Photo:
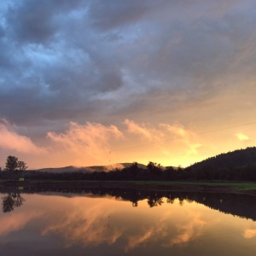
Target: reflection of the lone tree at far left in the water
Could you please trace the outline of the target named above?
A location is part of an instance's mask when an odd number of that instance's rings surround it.
[[[20,207],[23,205],[25,199],[20,195],[20,193],[9,193],[2,197],[2,209],[3,212],[12,212],[15,207]]]

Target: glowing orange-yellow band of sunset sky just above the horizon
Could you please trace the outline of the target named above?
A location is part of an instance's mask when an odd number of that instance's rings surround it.
[[[44,147],[39,147],[29,137],[21,136],[14,130],[12,125],[0,125],[0,149],[15,150],[26,158],[32,153],[33,157],[26,160],[31,169],[45,165],[60,167],[118,164],[113,166],[114,169],[122,167],[119,163],[133,161],[144,165],[153,161],[162,166],[189,166],[209,156],[224,153],[230,149],[227,145],[232,145],[233,149],[241,148],[241,145],[253,146],[253,139],[249,139],[252,137],[250,133],[246,135],[236,132],[237,140],[234,141],[234,135],[230,131],[223,131],[223,135],[218,135],[218,141],[223,143],[225,137],[225,141],[230,139],[230,142],[218,147],[212,135],[201,137],[195,128],[185,127],[177,122],[144,124],[125,119],[123,125],[119,126],[70,122],[66,131],[49,131]],[[219,152],[219,148],[223,148],[222,152]]]

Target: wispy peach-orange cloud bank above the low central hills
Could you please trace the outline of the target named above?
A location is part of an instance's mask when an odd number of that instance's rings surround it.
[[[162,154],[172,154],[172,148],[165,143],[174,141],[176,147],[182,145],[185,155],[197,154],[196,148],[201,146],[200,143],[195,143],[195,134],[182,125],[161,124],[155,127],[151,124],[137,124],[130,119],[125,119],[124,124],[125,127],[117,127],[89,122],[79,125],[71,122],[65,132],[48,132],[47,137],[50,141],[47,157],[52,158],[50,161],[55,159],[55,162],[62,159],[62,165],[68,165],[69,160],[73,165],[90,166],[93,163],[102,165],[106,160],[112,160],[122,151],[122,145],[125,143],[130,143],[133,159],[137,157],[137,147],[142,144],[153,144]],[[148,158],[146,163],[150,160]],[[119,159],[114,158],[114,161],[118,162]]]

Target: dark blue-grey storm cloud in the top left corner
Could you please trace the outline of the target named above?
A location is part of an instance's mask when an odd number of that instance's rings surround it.
[[[80,2],[72,1],[71,4],[66,0],[16,1],[9,5],[6,19],[20,42],[45,44],[49,43],[58,30],[58,15],[67,15]]]

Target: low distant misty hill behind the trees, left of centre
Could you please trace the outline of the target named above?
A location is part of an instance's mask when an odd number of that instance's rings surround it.
[[[86,167],[77,167],[77,166],[65,166],[59,168],[42,168],[35,170],[37,172],[51,172],[51,173],[61,173],[61,172],[109,172],[116,170],[116,168],[122,170],[126,167],[131,166],[131,163],[119,163],[109,166],[86,166]],[[138,164],[139,168],[147,168],[143,164]]]

